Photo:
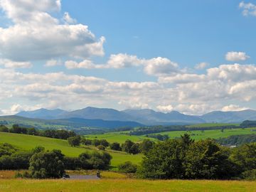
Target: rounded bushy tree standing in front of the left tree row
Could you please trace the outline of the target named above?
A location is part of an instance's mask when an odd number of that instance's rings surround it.
[[[32,178],[61,178],[65,174],[64,155],[60,150],[41,151],[29,161]]]

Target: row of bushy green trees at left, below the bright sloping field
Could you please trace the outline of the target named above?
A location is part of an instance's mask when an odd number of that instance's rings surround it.
[[[20,151],[11,144],[0,144],[0,169],[28,169],[25,177],[60,178],[69,169],[108,169],[112,156],[107,152],[82,153],[68,157],[58,149],[46,151],[37,146],[31,151]]]

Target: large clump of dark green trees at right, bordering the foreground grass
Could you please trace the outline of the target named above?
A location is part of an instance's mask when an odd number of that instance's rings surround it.
[[[256,179],[256,143],[235,149],[213,139],[195,142],[188,134],[154,144],[137,175],[157,179]]]

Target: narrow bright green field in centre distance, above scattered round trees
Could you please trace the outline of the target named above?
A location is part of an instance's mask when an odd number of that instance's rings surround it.
[[[153,141],[157,141],[153,138],[148,138],[145,136],[136,136],[136,135],[129,135],[129,134],[122,134],[123,132],[114,132],[114,133],[105,133],[105,134],[91,134],[85,135],[87,139],[106,139],[107,142],[119,142],[124,143],[127,139],[131,140],[132,142],[142,142],[144,139],[151,139]]]

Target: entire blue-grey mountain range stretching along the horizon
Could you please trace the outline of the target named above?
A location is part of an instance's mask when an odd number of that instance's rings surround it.
[[[154,110],[119,111],[107,108],[86,107],[71,112],[59,109],[39,109],[18,112],[16,115],[36,119],[97,119],[104,121],[137,122],[145,125],[198,124],[206,122],[238,123],[245,120],[256,120],[255,110],[242,110],[238,112],[214,111],[203,115],[188,115],[177,111],[163,113]]]

